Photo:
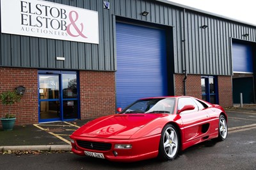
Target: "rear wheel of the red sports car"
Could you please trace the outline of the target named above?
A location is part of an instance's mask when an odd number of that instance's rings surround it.
[[[218,137],[216,138],[216,141],[225,141],[227,139],[228,135],[228,124],[225,116],[222,114],[219,118],[219,127],[218,127]]]

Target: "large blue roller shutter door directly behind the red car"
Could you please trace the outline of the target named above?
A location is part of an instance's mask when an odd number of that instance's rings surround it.
[[[116,106],[167,95],[165,31],[116,22]]]

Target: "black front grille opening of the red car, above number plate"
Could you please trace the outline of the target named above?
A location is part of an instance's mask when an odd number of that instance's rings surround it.
[[[91,141],[77,141],[77,145],[81,148],[98,151],[108,151],[111,149],[111,143],[97,143]]]

